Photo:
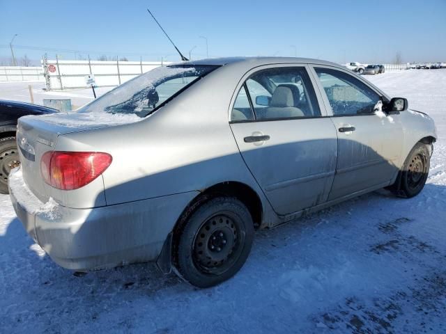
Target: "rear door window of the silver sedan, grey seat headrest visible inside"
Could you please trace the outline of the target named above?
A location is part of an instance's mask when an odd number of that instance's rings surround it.
[[[316,94],[304,67],[261,70],[249,77],[244,86],[256,120],[321,116]]]

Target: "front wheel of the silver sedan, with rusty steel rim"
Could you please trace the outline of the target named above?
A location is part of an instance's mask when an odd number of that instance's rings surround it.
[[[426,145],[417,143],[404,161],[403,170],[397,181],[388,189],[397,196],[412,198],[417,196],[426,184],[431,157]]]

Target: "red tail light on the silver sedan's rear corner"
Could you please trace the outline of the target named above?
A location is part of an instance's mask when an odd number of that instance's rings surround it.
[[[40,159],[40,173],[50,186],[79,189],[104,173],[112,156],[102,152],[46,152]]]

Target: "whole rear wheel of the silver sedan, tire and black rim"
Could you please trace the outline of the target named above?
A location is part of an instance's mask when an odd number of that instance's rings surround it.
[[[176,271],[196,287],[213,287],[243,267],[253,239],[252,217],[240,200],[208,200],[185,220],[174,239]]]

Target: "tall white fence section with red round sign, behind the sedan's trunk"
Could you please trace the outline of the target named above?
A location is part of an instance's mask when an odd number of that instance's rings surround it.
[[[164,63],[167,65],[168,63]],[[59,61],[43,62],[47,76],[47,89],[85,88],[85,77],[95,76],[98,87],[123,84],[139,74],[163,65],[157,61]],[[48,85],[49,84],[49,85]]]

